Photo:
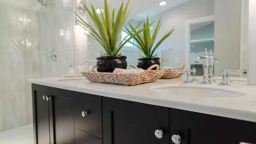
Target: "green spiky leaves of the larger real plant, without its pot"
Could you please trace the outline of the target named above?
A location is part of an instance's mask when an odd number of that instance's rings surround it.
[[[90,33],[90,34],[85,34],[85,35],[87,35],[88,37],[90,37],[90,38],[94,39],[95,41],[99,42],[103,46],[104,50],[106,51],[105,54],[102,54],[103,56],[121,55],[121,53],[119,53],[119,51],[122,49],[122,47],[127,42],[129,42],[130,39],[134,38],[136,35],[141,33],[146,28],[149,28],[149,26],[152,24],[152,23],[148,24],[147,27],[145,27],[145,28],[143,28],[139,31],[136,31],[133,34],[131,34],[132,31],[133,31],[132,30],[131,33],[130,33],[130,37],[129,38],[125,37],[123,39],[123,41],[118,44],[120,34],[122,32],[122,29],[123,29],[123,25],[124,25],[129,13],[130,13],[130,10],[131,10],[130,9],[127,12],[129,2],[126,4],[124,9],[123,9],[123,3],[120,6],[120,9],[117,13],[116,20],[114,20],[115,19],[114,18],[115,17],[115,15],[114,15],[115,9],[113,10],[112,15],[110,15],[109,6],[108,6],[108,3],[107,3],[106,0],[105,0],[105,17],[104,17],[104,15],[103,15],[100,7],[99,7],[101,19],[100,19],[98,13],[96,12],[96,10],[94,9],[92,4],[91,4],[91,6],[92,6],[92,12],[91,12],[88,9],[88,7],[83,3],[84,6],[85,6],[85,9],[87,10],[90,17],[92,18],[95,26],[97,27],[98,32],[96,30],[94,30],[82,18],[80,18],[79,15],[77,15],[77,13],[76,13],[78,19],[77,18],[75,18],[75,19],[78,21],[78,24],[81,27],[83,27],[85,30],[89,31],[89,33]],[[136,28],[138,28],[138,26]]]

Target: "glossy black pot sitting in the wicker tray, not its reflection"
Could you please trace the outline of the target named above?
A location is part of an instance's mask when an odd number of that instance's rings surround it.
[[[126,56],[108,56],[108,57],[97,57],[96,66],[98,72],[113,73],[115,68],[126,69],[127,62]]]

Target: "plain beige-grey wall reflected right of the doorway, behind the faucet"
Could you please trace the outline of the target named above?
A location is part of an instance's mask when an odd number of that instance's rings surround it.
[[[239,69],[241,0],[215,0],[215,76],[222,69]],[[238,75],[233,75],[238,76]]]

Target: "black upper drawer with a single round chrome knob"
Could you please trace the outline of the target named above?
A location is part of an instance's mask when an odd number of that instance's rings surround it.
[[[100,96],[74,92],[74,116],[75,127],[102,139]]]

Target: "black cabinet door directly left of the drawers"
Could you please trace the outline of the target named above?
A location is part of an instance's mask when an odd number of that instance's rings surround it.
[[[49,87],[51,143],[74,143],[73,92]]]

